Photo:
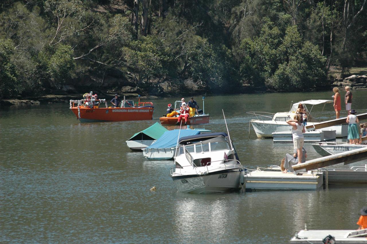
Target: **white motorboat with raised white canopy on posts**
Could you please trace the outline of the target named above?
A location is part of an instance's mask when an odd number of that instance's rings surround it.
[[[311,111],[314,105],[332,103],[333,100],[307,100],[294,103],[289,112],[279,113],[267,113],[267,112],[247,112],[254,114],[257,119],[251,120],[252,127],[254,127],[255,133],[258,138],[273,137],[273,132],[290,131],[292,127],[286,123],[287,120],[294,119],[295,112],[298,108],[298,104],[302,103],[307,112],[307,125],[318,124],[321,121],[313,118]],[[308,111],[306,104],[312,105],[310,111]],[[264,118],[264,119],[263,119]],[[337,137],[345,137],[348,135],[348,125],[335,125],[331,127],[323,128],[322,130],[335,130]]]

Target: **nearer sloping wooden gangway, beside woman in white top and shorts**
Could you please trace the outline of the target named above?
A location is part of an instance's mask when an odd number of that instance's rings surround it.
[[[346,165],[364,159],[367,159],[367,148],[360,148],[330,156],[320,157],[318,159],[308,160],[305,163],[293,165],[292,168],[294,169],[294,174],[297,174],[299,172],[315,170],[317,168],[323,168],[334,164],[344,163],[344,165]]]

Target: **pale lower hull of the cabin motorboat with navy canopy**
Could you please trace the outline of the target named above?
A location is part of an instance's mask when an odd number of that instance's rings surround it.
[[[183,193],[220,193],[239,190],[241,172],[239,169],[222,170],[207,175],[172,175],[177,190]]]

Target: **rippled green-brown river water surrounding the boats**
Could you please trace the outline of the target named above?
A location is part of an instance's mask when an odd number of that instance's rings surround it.
[[[257,139],[249,128],[254,117],[246,112],[283,112],[291,101],[331,95],[208,96],[204,109],[211,121],[195,127],[226,131],[224,109],[241,163],[252,169],[279,165],[292,144]],[[202,108],[201,97],[196,101]],[[305,224],[357,228],[367,185],[178,193],[169,175],[173,161],[146,160],[125,143],[158,121],[174,99],[153,103],[153,121],[105,123],[79,123],[67,103],[0,108],[0,243],[288,243]],[[367,112],[366,105],[366,91],[353,91],[352,109]],[[335,117],[332,104],[312,113]],[[309,159],[320,157],[310,144],[305,148]]]

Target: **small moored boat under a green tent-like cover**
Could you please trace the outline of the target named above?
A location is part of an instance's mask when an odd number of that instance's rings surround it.
[[[156,122],[145,130],[135,133],[126,141],[126,144],[131,150],[141,151],[156,142],[166,131],[168,130]]]

